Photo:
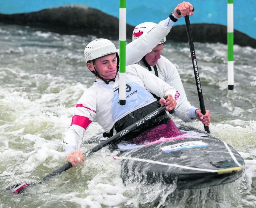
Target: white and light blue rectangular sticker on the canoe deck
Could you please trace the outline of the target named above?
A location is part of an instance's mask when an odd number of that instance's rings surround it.
[[[187,141],[182,143],[177,143],[174,145],[168,145],[165,147],[161,147],[162,150],[164,150],[166,153],[172,152],[172,151],[178,151],[181,149],[189,149],[189,148],[196,148],[196,147],[208,147],[209,145],[204,143],[203,141]]]

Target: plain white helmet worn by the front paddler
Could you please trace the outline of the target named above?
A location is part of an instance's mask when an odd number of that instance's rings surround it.
[[[91,41],[84,49],[86,63],[113,53],[117,53],[116,46],[110,40],[104,38]]]

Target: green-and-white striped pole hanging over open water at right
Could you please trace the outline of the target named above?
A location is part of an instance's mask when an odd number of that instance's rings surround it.
[[[234,9],[228,0],[228,89],[234,89]]]

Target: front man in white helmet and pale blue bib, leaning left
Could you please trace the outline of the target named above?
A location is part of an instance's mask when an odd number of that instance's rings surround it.
[[[85,47],[84,57],[88,69],[95,74],[96,80],[78,100],[71,125],[63,132],[62,143],[65,151],[68,152],[67,159],[72,165],[84,161],[84,156],[78,148],[92,122],[97,122],[107,132],[113,127],[119,132],[161,105],[165,105],[168,111],[174,109],[180,97],[180,93],[174,87],[140,65],[134,64],[126,67],[126,104],[121,106],[119,58],[114,43],[107,39],[96,39]],[[151,93],[161,97],[160,101],[158,102]],[[168,96],[166,100],[164,96]],[[140,125],[132,131],[132,135],[128,133],[126,138],[134,138],[141,132],[160,124],[170,126],[172,123],[166,112],[163,112]]]

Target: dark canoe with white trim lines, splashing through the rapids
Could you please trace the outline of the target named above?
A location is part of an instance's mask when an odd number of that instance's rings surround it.
[[[194,189],[233,182],[244,172],[244,159],[230,145],[192,127],[179,125],[184,135],[158,138],[146,144],[121,142],[124,182],[174,183]]]

